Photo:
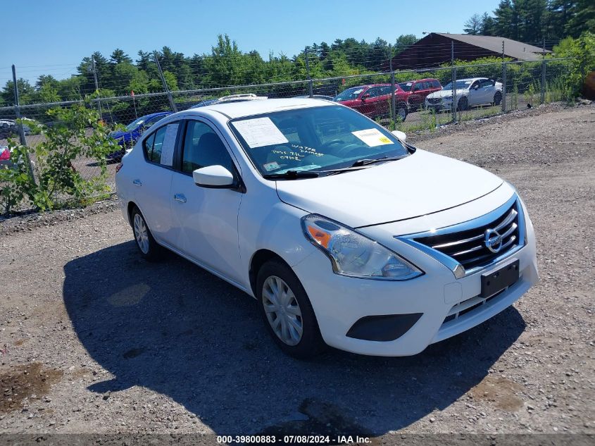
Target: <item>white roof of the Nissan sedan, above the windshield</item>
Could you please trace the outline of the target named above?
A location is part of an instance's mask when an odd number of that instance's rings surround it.
[[[228,102],[227,104],[206,105],[199,109],[188,109],[185,113],[199,114],[205,111],[216,111],[227,116],[227,118],[234,119],[282,110],[308,109],[310,107],[333,105],[336,106],[337,104],[325,99],[261,99],[260,101]]]

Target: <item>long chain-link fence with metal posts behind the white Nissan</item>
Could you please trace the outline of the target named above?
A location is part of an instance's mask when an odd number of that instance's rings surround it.
[[[149,125],[165,113],[209,104],[234,94],[255,94],[268,98],[326,97],[343,103],[372,118],[389,130],[412,132],[434,130],[439,125],[494,116],[527,107],[565,99],[563,80],[568,60],[544,58],[542,61],[441,66],[423,70],[393,70],[372,74],[350,74],[333,78],[269,82],[205,89],[169,91],[120,97],[100,97],[98,89],[89,102],[106,125],[123,125],[113,133],[114,154],[108,156],[108,187],[115,192],[115,166],[123,149],[132,146]],[[309,77],[308,75],[306,77]],[[163,73],[162,73],[163,78]],[[477,79],[482,78],[482,79]],[[368,86],[373,86],[368,87]],[[370,92],[366,97],[361,91]],[[353,94],[348,94],[353,92]],[[351,98],[353,97],[353,98]],[[345,99],[345,98],[343,98]],[[49,110],[68,107],[81,101],[0,107],[0,147],[8,138],[35,149],[44,137],[36,124],[55,125]],[[160,114],[161,113],[161,114]],[[89,128],[89,132],[91,129]],[[1,149],[0,149],[1,151]],[[119,156],[118,156],[118,152]],[[32,150],[35,153],[35,150]],[[35,156],[32,156],[35,171]],[[7,163],[0,168],[10,168]],[[99,175],[92,159],[76,159],[73,169],[85,179]],[[5,186],[5,185],[4,185]],[[3,187],[3,185],[0,185]],[[0,212],[2,209],[0,209]]]

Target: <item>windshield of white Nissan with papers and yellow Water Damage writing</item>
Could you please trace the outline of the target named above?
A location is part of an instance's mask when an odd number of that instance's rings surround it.
[[[277,111],[231,121],[254,166],[263,175],[324,171],[360,159],[406,156],[391,132],[342,106]]]

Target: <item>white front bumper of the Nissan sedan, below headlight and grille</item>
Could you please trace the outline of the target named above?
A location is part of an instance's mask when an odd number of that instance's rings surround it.
[[[498,314],[537,283],[535,238],[528,216],[526,222],[524,247],[497,264],[460,279],[454,278],[443,264],[406,244],[399,247],[399,254],[425,271],[413,280],[366,280],[337,275],[332,273],[327,257],[318,250],[294,266],[294,271],[310,297],[320,333],[328,345],[375,356],[417,354],[434,342],[469,330]],[[519,280],[487,301],[480,299],[481,275],[516,259],[520,262]],[[362,340],[347,335],[366,316],[403,314],[421,316],[394,340]]]

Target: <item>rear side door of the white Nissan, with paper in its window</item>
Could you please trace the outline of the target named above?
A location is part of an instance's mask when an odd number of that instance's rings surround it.
[[[170,211],[173,153],[180,122],[162,125],[143,142],[144,163],[132,176],[134,202],[158,242],[171,244],[174,228]]]

